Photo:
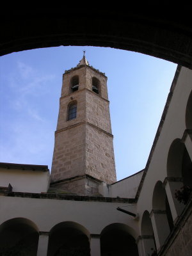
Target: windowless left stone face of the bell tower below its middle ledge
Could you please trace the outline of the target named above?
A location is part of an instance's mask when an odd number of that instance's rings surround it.
[[[51,180],[83,175],[85,172],[85,124],[55,134]]]

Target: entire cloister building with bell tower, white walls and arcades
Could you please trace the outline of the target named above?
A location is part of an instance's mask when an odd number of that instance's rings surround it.
[[[46,166],[0,164],[0,255],[191,255],[191,81],[178,66],[145,169],[116,181],[106,76],[85,57],[65,72],[51,185]]]

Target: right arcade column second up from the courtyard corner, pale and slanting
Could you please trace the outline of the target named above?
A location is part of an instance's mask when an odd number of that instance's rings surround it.
[[[156,240],[157,252],[164,244],[166,237],[170,234],[170,228],[166,217],[166,211],[152,210],[150,212],[152,227],[154,230],[154,237]]]

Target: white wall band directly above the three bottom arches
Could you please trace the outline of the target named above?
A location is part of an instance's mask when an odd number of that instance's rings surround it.
[[[12,218],[26,218],[33,221],[38,230],[49,232],[62,221],[74,221],[82,225],[90,234],[100,234],[112,223],[123,223],[129,234],[138,237],[138,221],[116,208],[127,203],[90,202],[76,200],[56,200],[0,196],[0,225]],[[136,206],[130,205],[135,212]]]

